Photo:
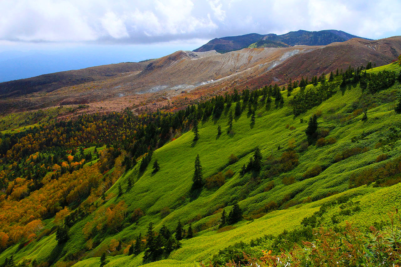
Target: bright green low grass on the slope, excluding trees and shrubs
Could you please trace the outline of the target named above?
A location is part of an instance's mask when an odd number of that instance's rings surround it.
[[[378,69],[395,69],[394,64]],[[308,85],[307,88],[313,88]],[[349,216],[342,216],[340,225],[345,220],[350,220],[361,227],[368,227],[375,221],[380,221],[393,207],[401,204],[400,185],[396,184],[386,188],[374,188],[372,186],[361,186],[349,189],[348,179],[354,172],[360,172],[366,168],[383,166],[389,160],[401,154],[401,142],[395,142],[392,149],[375,148],[379,138],[387,135],[391,126],[401,126],[401,115],[395,113],[395,95],[401,93],[401,85],[396,82],[393,87],[380,91],[374,95],[375,107],[367,112],[368,120],[361,120],[363,113],[354,113],[356,104],[360,101],[362,91],[358,85],[347,86],[344,90],[338,90],[328,100],[317,107],[308,110],[298,117],[291,113],[288,101],[296,95],[300,89],[294,90],[290,97],[284,91],[284,107],[275,108],[274,102],[267,109],[265,105],[258,105],[256,110],[256,121],[251,123],[247,109],[241,116],[235,117],[233,121],[234,134],[227,134],[227,121],[229,109],[225,109],[220,119],[212,117],[207,121],[199,123],[200,138],[193,142],[193,132],[189,131],[176,140],[169,142],[162,148],[156,150],[152,156],[148,168],[139,172],[139,164],[128,170],[107,191],[107,194],[117,195],[118,186],[124,191],[122,196],[116,196],[104,205],[118,203],[124,200],[128,205],[128,214],[136,208],[141,208],[145,216],[140,218],[137,224],[127,224],[127,227],[115,235],[109,235],[101,243],[85,254],[74,266],[98,266],[99,257],[110,244],[111,239],[123,240],[128,243],[134,240],[139,233],[146,234],[148,224],[154,223],[156,231],[165,224],[171,231],[175,230],[178,220],[187,224],[192,220],[192,227],[199,229],[195,237],[182,241],[182,247],[173,251],[169,258],[163,261],[150,263],[146,266],[194,266],[194,261],[208,260],[220,249],[239,241],[250,241],[266,234],[277,235],[284,230],[290,230],[300,225],[302,219],[310,216],[319,207],[330,199],[338,196],[348,195],[360,201],[361,210]],[[231,106],[234,113],[235,103]],[[309,146],[301,151],[301,146],[306,142],[305,129],[310,116],[321,113],[318,118],[319,127],[330,131],[328,137],[336,138],[334,144],[318,147]],[[354,114],[354,115],[353,115]],[[301,123],[300,119],[303,119]],[[217,126],[221,125],[223,134],[217,136]],[[290,129],[293,126],[295,127]],[[354,140],[352,140],[354,138]],[[355,138],[358,140],[355,141]],[[265,188],[270,182],[264,178],[263,172],[259,174],[260,179],[251,178],[251,174],[244,176],[240,174],[243,164],[247,164],[253,156],[253,150],[259,147],[263,160],[272,155],[279,158],[288,149],[288,141],[295,140],[295,150],[299,156],[299,164],[293,170],[273,177],[275,187],[267,192]],[[280,150],[278,150],[280,146]],[[367,152],[351,156],[350,158],[334,162],[334,156],[348,148],[368,148]],[[377,156],[388,154],[388,159],[376,163]],[[226,182],[220,188],[204,188],[198,196],[190,193],[192,176],[194,171],[194,160],[199,154],[203,167],[203,177],[209,177],[223,173],[229,169],[233,170],[234,176],[226,178]],[[229,164],[229,155],[234,154],[239,160]],[[152,173],[154,160],[158,160],[160,170]],[[302,175],[310,168],[319,165],[322,172],[313,178],[303,180]],[[284,185],[282,178],[294,176],[296,182]],[[134,186],[126,192],[128,178],[132,178]],[[338,193],[329,196],[333,193]],[[206,228],[205,225],[216,221],[221,216],[220,208],[225,207],[226,212],[231,210],[231,205],[239,201],[239,206],[244,214],[262,208],[265,204],[284,199],[290,196],[293,204],[287,209],[276,210],[252,222],[242,220],[234,225],[234,229],[217,233],[216,227]],[[326,197],[329,196],[329,197]],[[310,197],[314,202],[304,203]],[[99,202],[100,204],[101,202]],[[166,217],[160,216],[162,208],[169,207],[171,212]],[[338,214],[338,206],[333,207],[324,215],[325,224],[333,226],[330,219]],[[36,259],[36,262],[47,261],[49,251],[60,249],[64,261],[69,261],[68,255],[78,253],[85,247],[87,242],[82,234],[82,228],[93,216],[76,223],[69,231],[70,239],[64,247],[57,247],[55,235],[45,237],[38,242],[32,242],[23,249],[18,250],[18,245],[11,247],[0,255],[0,263],[5,257],[14,254],[14,259]],[[209,224],[210,225],[210,224]],[[185,226],[187,228],[188,225]],[[206,228],[206,229],[205,229]],[[107,257],[106,266],[138,266],[142,264],[143,253],[134,256],[126,254]]]

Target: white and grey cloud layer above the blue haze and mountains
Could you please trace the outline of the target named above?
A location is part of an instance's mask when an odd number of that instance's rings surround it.
[[[401,34],[399,0],[2,0],[0,42],[153,43],[257,32]]]

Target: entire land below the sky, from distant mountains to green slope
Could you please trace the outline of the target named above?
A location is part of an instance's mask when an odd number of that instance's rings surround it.
[[[253,33],[0,83],[0,267],[401,266],[400,54]]]

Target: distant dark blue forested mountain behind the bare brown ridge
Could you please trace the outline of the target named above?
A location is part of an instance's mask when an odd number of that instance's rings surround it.
[[[273,33],[264,35],[252,33],[240,36],[215,38],[198,49],[195,49],[194,52],[216,50],[219,53],[227,53],[245,47],[262,48],[290,47],[294,45],[327,45],[332,42],[344,42],[352,38],[362,37],[343,32],[342,30],[320,30],[313,32],[298,30],[296,32],[288,32],[281,35]],[[252,40],[256,41],[252,42]]]

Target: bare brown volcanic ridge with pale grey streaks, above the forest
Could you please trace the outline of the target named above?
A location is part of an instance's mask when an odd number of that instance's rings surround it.
[[[126,107],[138,113],[157,108],[173,110],[234,88],[282,85],[290,78],[328,74],[337,68],[345,70],[349,65],[365,66],[368,62],[385,65],[399,54],[401,36],[380,40],[353,38],[326,46],[247,48],[225,54],[177,51],[146,63],[115,64],[109,73],[107,67],[95,73],[96,67],[92,72],[87,69],[64,72],[57,83],[39,89],[38,84],[43,83],[40,77],[49,81],[52,75],[29,78],[30,83],[24,81],[27,79],[18,80],[21,87],[25,86],[18,92],[7,89],[11,82],[0,83],[0,112],[77,104],[87,104],[80,113],[107,113]],[[18,81],[13,81],[14,85]]]

